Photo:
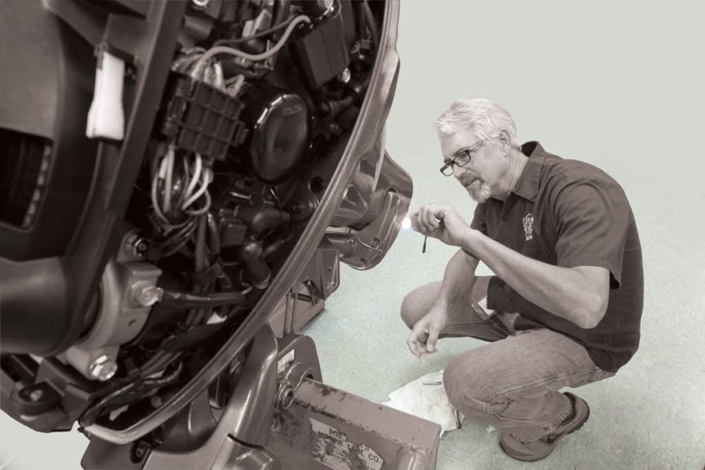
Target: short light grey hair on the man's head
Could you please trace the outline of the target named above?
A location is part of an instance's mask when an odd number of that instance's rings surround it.
[[[474,128],[479,140],[487,140],[504,130],[511,147],[519,148],[517,125],[507,110],[484,98],[458,99],[436,120],[439,135],[453,135]]]

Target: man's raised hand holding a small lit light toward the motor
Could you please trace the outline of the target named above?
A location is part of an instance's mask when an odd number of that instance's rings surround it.
[[[434,237],[446,245],[460,247],[470,227],[453,206],[422,206],[410,214],[411,228],[427,237]]]

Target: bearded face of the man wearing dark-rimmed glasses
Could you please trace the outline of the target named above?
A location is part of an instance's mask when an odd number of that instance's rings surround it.
[[[472,199],[485,202],[495,194],[507,162],[492,140],[478,145],[480,141],[471,128],[453,135],[441,135],[440,141],[443,163],[448,163],[462,151],[471,149],[471,159],[467,164],[453,165],[453,177],[465,187]]]

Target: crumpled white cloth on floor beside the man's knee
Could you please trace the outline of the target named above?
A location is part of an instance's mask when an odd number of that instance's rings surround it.
[[[441,426],[441,435],[458,429],[465,419],[448,402],[443,388],[443,371],[427,373],[389,394],[389,401],[382,403],[400,412],[412,414]]]

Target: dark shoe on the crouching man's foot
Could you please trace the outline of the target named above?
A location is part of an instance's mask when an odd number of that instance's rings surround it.
[[[582,428],[582,425],[590,417],[590,407],[587,406],[585,400],[570,392],[564,392],[563,395],[570,398],[572,410],[570,415],[558,425],[556,431],[530,443],[524,443],[510,433],[501,433],[499,446],[504,453],[523,462],[536,462],[548,457],[548,454],[551,454],[556,447],[558,440],[564,435]]]

